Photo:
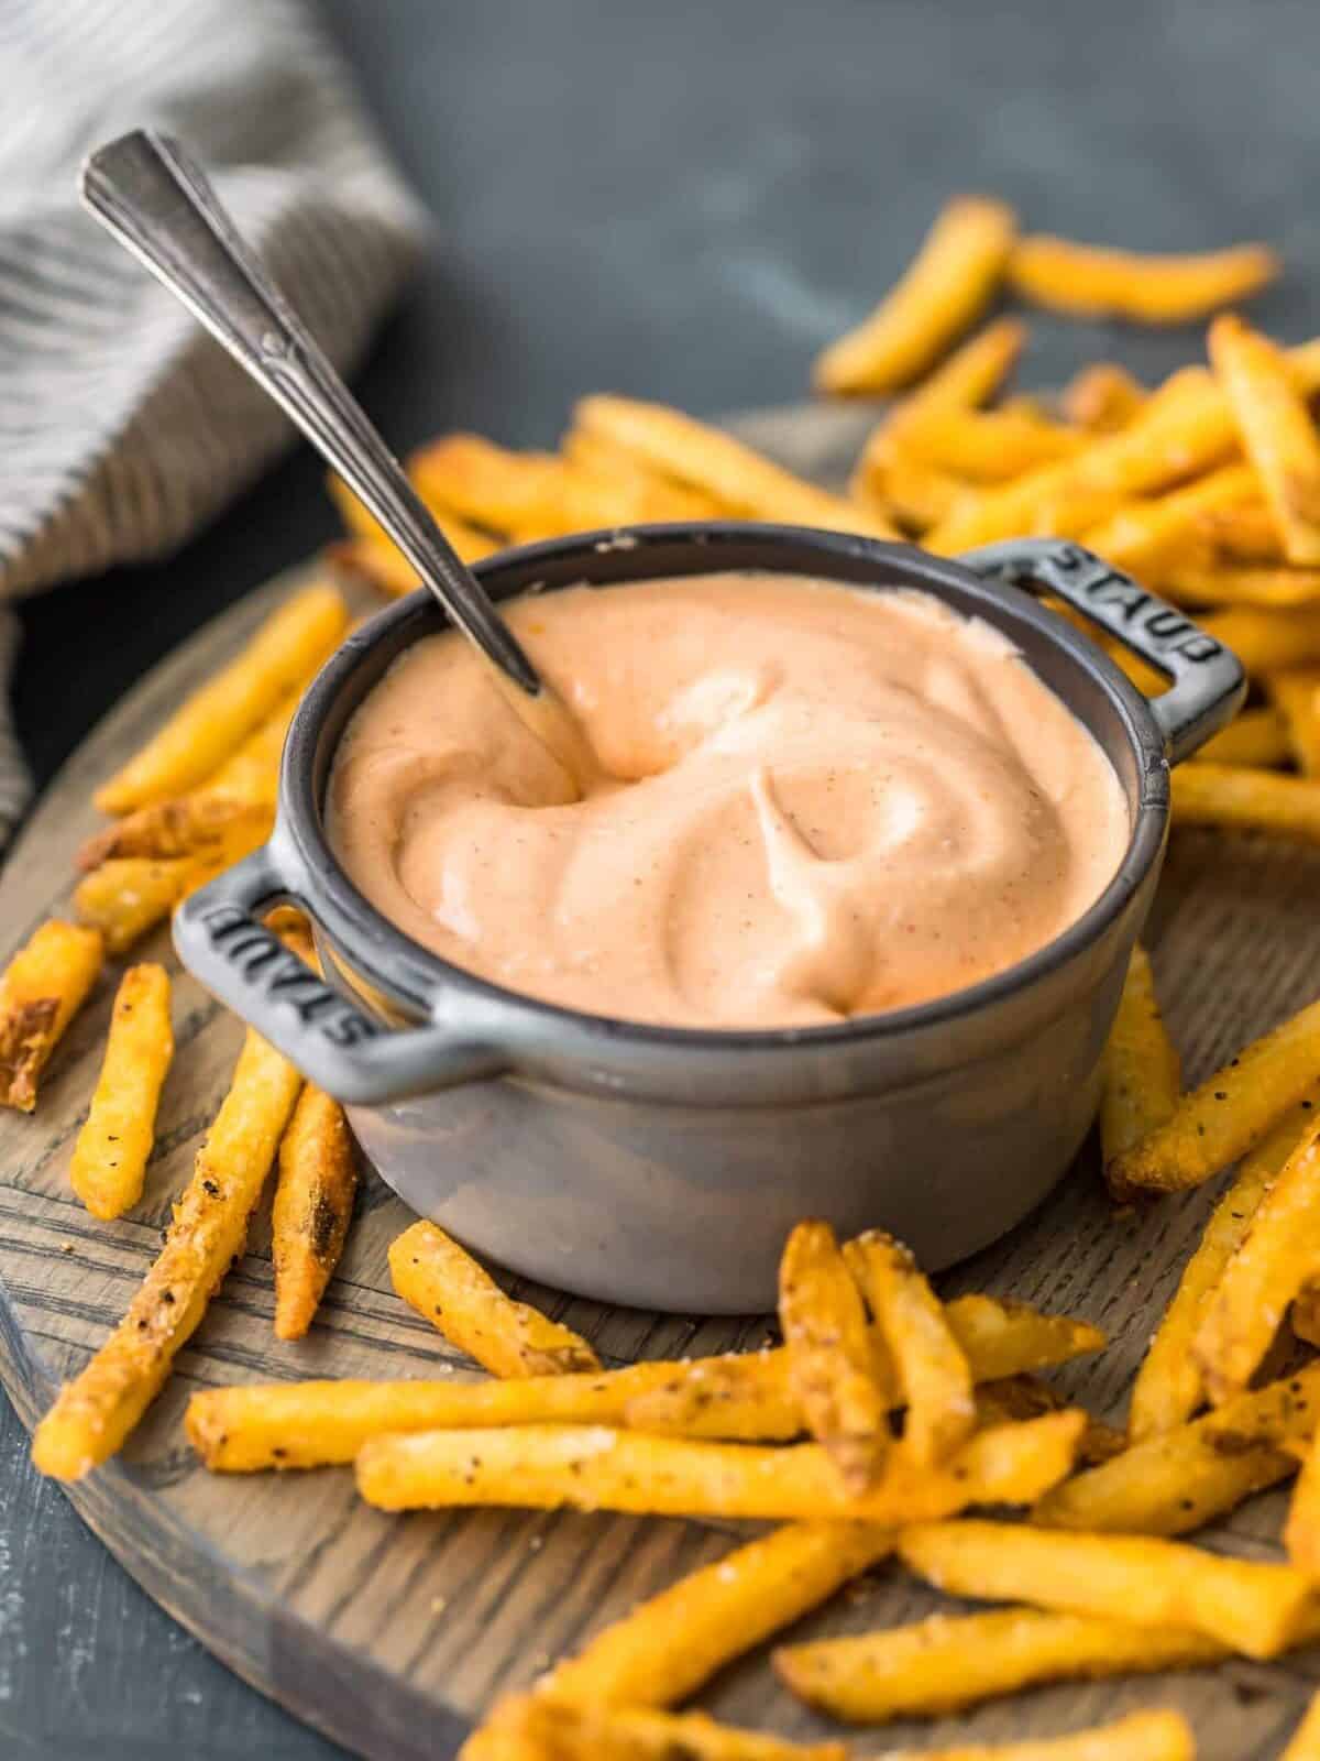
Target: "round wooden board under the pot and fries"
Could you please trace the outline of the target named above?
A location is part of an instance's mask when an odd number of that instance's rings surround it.
[[[743,424],[799,470],[829,479],[852,456],[866,416],[778,412]],[[248,637],[299,576],[273,581],[160,666],[92,734],[35,814],[0,880],[0,956],[48,914],[67,912],[72,856],[97,824],[92,789],[160,718]],[[1308,1002],[1320,963],[1320,852],[1179,836],[1149,932],[1186,1072],[1202,1076],[1250,1035]],[[32,1118],[0,1115],[0,1377],[32,1426],[62,1377],[77,1370],[128,1303],[150,1264],[171,1197],[225,1090],[236,1020],[178,974],[165,933],[143,953],[176,972],[178,1057],[143,1203],[99,1224],[67,1185],[70,1136],[95,1079],[113,974],[74,1023]],[[975,1175],[970,1173],[970,1178]],[[1089,1159],[1023,1227],[943,1280],[947,1294],[987,1289],[1081,1314],[1111,1333],[1109,1351],[1060,1375],[1096,1414],[1121,1412],[1151,1328],[1195,1242],[1211,1192],[1114,1217]],[[882,1219],[876,1219],[882,1220]],[[736,1525],[517,1511],[387,1518],[361,1506],[347,1470],[220,1479],[183,1440],[195,1388],[308,1375],[465,1375],[389,1287],[385,1249],[408,1213],[364,1180],[348,1249],[308,1340],[271,1333],[269,1227],[227,1277],[204,1326],[123,1456],[70,1488],[74,1506],[127,1569],[239,1675],[373,1761],[438,1761],[500,1689],[532,1680],[639,1597],[716,1558]],[[702,1321],[605,1310],[526,1282],[510,1287],[565,1315],[602,1359],[723,1351],[755,1342],[762,1321]],[[1206,1539],[1276,1557],[1281,1495],[1237,1511]],[[861,1631],[950,1604],[882,1569],[804,1624]],[[1121,1710],[1179,1705],[1204,1761],[1278,1752],[1320,1676],[1320,1657],[1118,1684],[1052,1687],[884,1738],[854,1752],[1045,1735]],[[753,1655],[702,1703],[722,1717],[820,1738]],[[838,1735],[838,1733],[832,1733]]]

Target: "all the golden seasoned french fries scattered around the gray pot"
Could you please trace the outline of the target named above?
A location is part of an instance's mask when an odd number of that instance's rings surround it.
[[[1077,537],[1179,604],[1209,608],[1204,622],[1251,674],[1253,701],[1177,773],[1176,821],[1316,842],[1320,342],[1280,350],[1221,310],[1276,271],[1262,247],[1153,259],[1023,238],[1003,203],[964,197],[817,363],[822,391],[901,393],[847,493],[678,410],[616,396],[584,398],[558,453],[449,435],[410,472],[470,560],[713,516],[910,537],[947,555],[1021,534]],[[1133,322],[1220,315],[1207,365],[1163,386],[1102,361],[1056,398],[1005,396],[1024,322],[993,317],[964,340],[1001,291]],[[400,553],[340,484],[331,491],[347,525],[331,569],[408,592]],[[347,627],[331,581],[301,590],[99,791],[111,822],[79,856],[77,921],[42,925],[0,979],[0,1104],[37,1106],[106,960],[268,835],[289,720]],[[1140,689],[1163,689],[1114,659]],[[280,930],[315,960],[296,914]],[[141,1199],[171,1060],[169,974],[132,965],[69,1168],[95,1217]],[[783,1252],[781,1345],[609,1370],[586,1338],[510,1300],[417,1222],[391,1249],[394,1289],[488,1379],[218,1388],[192,1398],[187,1433],[216,1474],[354,1465],[363,1499],[389,1511],[498,1504],[778,1525],[505,1698],[466,1761],[832,1761],[838,1743],[803,1747],[681,1708],[730,1659],[882,1566],[1001,1606],[773,1652],[790,1692],[848,1724],[1318,1643],[1320,1358],[1308,1354],[1320,1345],[1320,1002],[1184,1094],[1139,949],[1105,1055],[1100,1136],[1123,1205],[1236,1168],[1123,1432],[1049,1382],[1104,1347],[1096,1328],[991,1296],[945,1303],[901,1243],[880,1231],[838,1243],[806,1220]],[[155,1264],[37,1428],[42,1472],[76,1479],[123,1446],[241,1250],[271,1169],[275,1331],[297,1338],[343,1249],[357,1168],[336,1102],[248,1032]],[[1294,1476],[1287,1560],[1183,1539]],[[968,1514],[979,1509],[998,1514]],[[1045,1742],[922,1752],[1184,1761],[1193,1740],[1176,1712],[1155,1710]],[[1320,1705],[1287,1754],[1320,1756]]]

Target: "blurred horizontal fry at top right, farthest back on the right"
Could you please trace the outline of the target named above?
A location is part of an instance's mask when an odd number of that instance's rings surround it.
[[[1265,245],[1162,257],[1038,234],[1021,238],[1008,259],[1008,282],[1023,298],[1052,312],[1137,324],[1186,324],[1248,299],[1278,273],[1280,259]]]

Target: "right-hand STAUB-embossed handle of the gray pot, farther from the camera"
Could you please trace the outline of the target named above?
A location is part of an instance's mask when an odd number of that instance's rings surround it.
[[[1172,678],[1170,689],[1149,701],[1170,764],[1181,764],[1241,708],[1246,673],[1237,655],[1095,551],[1065,539],[1008,539],[966,551],[957,560],[1010,586],[1058,593],[1074,611]]]

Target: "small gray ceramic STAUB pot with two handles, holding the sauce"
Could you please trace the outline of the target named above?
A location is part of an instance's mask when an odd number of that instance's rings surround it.
[[[380,917],[322,831],[345,722],[440,627],[419,592],[322,669],[289,734],[271,842],[195,893],[174,939],[202,983],[348,1104],[366,1155],[421,1215],[567,1291],[746,1314],[773,1305],[785,1233],[804,1215],[843,1233],[880,1224],[935,1270],[1003,1234],[1063,1175],[1095,1115],[1100,1050],[1160,873],[1169,764],[1228,720],[1244,680],[1179,611],[1054,541],[945,562],[787,527],[644,527],[507,551],[479,572],[503,599],[716,569],[919,586],[1007,632],[1128,796],[1128,852],[1086,916],[998,977],[838,1027],[641,1027],[473,977]],[[1148,703],[1035,602],[1045,590],[1170,690]],[[331,984],[260,926],[282,900],[315,921]]]

